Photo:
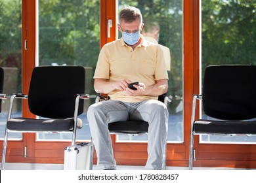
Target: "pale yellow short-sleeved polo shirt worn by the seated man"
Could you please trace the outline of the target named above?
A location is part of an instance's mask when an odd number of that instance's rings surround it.
[[[141,35],[140,45],[133,50],[123,38],[109,42],[102,47],[98,56],[94,78],[118,81],[128,78],[132,82],[142,82],[152,86],[156,80],[168,79],[163,51],[158,44],[146,41]],[[141,95],[130,96],[125,91],[114,90],[108,93],[110,99],[135,103],[158,97]]]

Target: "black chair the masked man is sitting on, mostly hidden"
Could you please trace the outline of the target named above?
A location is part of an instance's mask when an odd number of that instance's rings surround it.
[[[158,100],[163,102],[166,106],[167,103],[171,102],[173,97],[171,95],[160,95]],[[106,101],[108,100],[107,95],[100,95],[96,98],[96,102],[98,101]],[[108,130],[110,134],[114,135],[148,135],[148,122],[145,121],[121,121],[121,122],[113,122],[108,124]],[[166,157],[166,155],[165,155]]]

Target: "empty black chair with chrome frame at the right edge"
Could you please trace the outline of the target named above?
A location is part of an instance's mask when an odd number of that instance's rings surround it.
[[[195,120],[196,101],[206,116]],[[211,65],[205,69],[202,95],[192,105],[189,169],[193,167],[194,135],[256,135],[256,65]]]

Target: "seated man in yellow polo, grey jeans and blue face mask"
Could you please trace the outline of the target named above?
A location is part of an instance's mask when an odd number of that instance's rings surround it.
[[[95,69],[95,91],[110,100],[91,105],[87,118],[98,157],[98,169],[116,169],[108,124],[124,120],[148,122],[148,161],[145,169],[163,169],[168,110],[158,101],[167,92],[167,71],[158,44],[144,40],[140,10],[125,7],[119,13],[121,39],[105,44]],[[137,90],[128,88],[131,82]]]

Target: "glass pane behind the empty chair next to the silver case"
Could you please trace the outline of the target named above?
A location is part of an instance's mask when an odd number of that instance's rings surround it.
[[[100,0],[38,0],[38,65],[85,67],[85,93],[96,95],[93,74],[100,52]],[[77,141],[91,139],[87,108],[95,98],[85,100],[82,129]],[[39,134],[38,141],[70,141],[72,134]]]

